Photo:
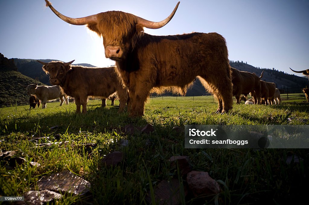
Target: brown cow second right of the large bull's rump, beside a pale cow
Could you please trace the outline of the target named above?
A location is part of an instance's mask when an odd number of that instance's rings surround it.
[[[261,84],[261,99],[265,100],[265,105],[273,104],[275,98],[276,85],[273,82],[260,81]],[[256,93],[252,92],[250,94],[252,97],[256,97]],[[263,103],[264,104],[264,103]]]

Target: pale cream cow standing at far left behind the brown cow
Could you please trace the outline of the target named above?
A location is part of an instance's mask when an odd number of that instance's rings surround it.
[[[21,85],[21,84],[20,84]],[[27,89],[27,94],[36,95],[36,97],[42,101],[43,106],[42,109],[46,108],[46,103],[48,100],[60,99],[60,106],[62,106],[63,102],[66,101],[66,104],[69,104],[69,96],[67,96],[60,86],[39,86],[36,84],[30,84],[28,86],[24,86]]]

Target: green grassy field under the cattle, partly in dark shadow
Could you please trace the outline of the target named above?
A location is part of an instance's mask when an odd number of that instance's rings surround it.
[[[90,192],[83,196],[62,193],[57,204],[148,204],[147,192],[154,193],[164,179],[176,178],[185,186],[186,179],[168,162],[177,155],[189,156],[192,169],[208,172],[222,190],[198,198],[181,195],[182,204],[301,204],[307,195],[307,149],[185,149],[184,132],[173,129],[188,124],[309,124],[305,100],[277,106],[234,104],[229,114],[218,115],[212,96],[158,97],[150,98],[145,116],[136,119],[126,112],[118,114],[110,101],[107,104],[102,108],[101,101],[89,101],[86,115],[76,115],[72,103],[59,107],[59,102],[51,102],[46,109],[30,111],[29,106],[1,108],[1,151],[16,151],[16,156],[40,166],[26,163],[6,170],[5,161],[0,161],[0,195],[22,196],[37,190],[42,176],[70,170],[91,183]],[[120,128],[128,124],[151,124],[155,131],[127,135]],[[128,146],[119,144],[123,139],[129,140]],[[114,151],[122,151],[124,160],[114,167],[102,165],[102,158]],[[291,153],[303,161],[287,164]]]

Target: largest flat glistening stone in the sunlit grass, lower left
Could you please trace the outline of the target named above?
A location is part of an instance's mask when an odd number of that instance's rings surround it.
[[[89,191],[90,183],[70,171],[44,176],[37,182],[39,190],[51,190],[61,193],[83,195]]]

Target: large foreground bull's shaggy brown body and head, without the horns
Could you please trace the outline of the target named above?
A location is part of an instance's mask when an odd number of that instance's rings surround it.
[[[147,26],[140,23],[140,18],[129,13],[107,11],[95,18],[95,22],[84,24],[103,37],[105,56],[116,61],[129,89],[129,116],[144,115],[153,88],[177,87],[186,91],[197,76],[218,99],[218,113],[232,108],[228,51],[225,39],[218,33],[152,36],[144,33],[143,27]]]

